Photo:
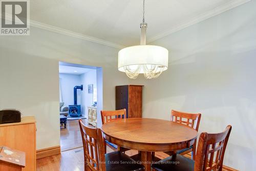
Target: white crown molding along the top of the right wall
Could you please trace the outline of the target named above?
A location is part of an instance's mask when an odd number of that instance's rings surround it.
[[[187,21],[181,23],[180,25],[177,25],[177,26],[173,27],[172,29],[166,30],[166,31],[164,31],[164,32],[162,32],[162,33],[160,33],[160,34],[158,34],[156,36],[148,38],[147,43],[150,43],[150,42],[155,41],[157,39],[163,38],[163,37],[165,37],[165,36],[167,36],[169,34],[178,32],[178,31],[180,31],[182,29],[185,29],[185,28],[187,28],[189,26],[195,25],[196,23],[201,22],[203,20],[206,20],[206,19],[208,19],[210,17],[213,17],[213,16],[216,16],[218,14],[221,14],[221,13],[223,13],[225,11],[228,11],[228,10],[230,10],[232,8],[236,8],[236,7],[238,7],[238,6],[242,5],[242,4],[245,4],[245,3],[249,2],[249,1],[251,1],[251,0],[233,0],[231,2],[228,2],[228,3],[224,4],[224,5],[221,5],[221,6],[217,7],[217,8],[214,8],[214,9],[212,9],[212,10],[206,12],[206,13],[203,13],[203,14],[197,16],[197,17],[194,17],[193,19],[187,20]]]

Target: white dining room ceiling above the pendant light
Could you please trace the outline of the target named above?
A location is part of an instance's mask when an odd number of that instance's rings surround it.
[[[147,40],[156,40],[248,1],[145,0]],[[102,44],[105,41],[129,46],[140,41],[142,4],[142,0],[33,0],[30,19],[54,26],[55,30],[61,28],[95,38]]]

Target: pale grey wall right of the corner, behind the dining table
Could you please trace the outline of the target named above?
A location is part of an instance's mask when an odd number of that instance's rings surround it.
[[[201,112],[200,132],[232,125],[224,164],[256,167],[256,1],[151,44],[170,52],[169,67],[144,84],[143,117],[170,119],[170,110]]]

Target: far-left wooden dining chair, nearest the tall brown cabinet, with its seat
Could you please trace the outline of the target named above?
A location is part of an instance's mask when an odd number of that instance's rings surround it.
[[[126,109],[113,110],[113,111],[101,110],[100,113],[101,113],[102,124],[108,123],[116,119],[126,118]],[[130,149],[120,148],[116,144],[113,144],[106,139],[105,139],[105,143],[114,151],[124,152],[124,151],[130,150]]]

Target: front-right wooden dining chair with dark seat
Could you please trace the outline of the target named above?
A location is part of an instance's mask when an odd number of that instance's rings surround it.
[[[161,171],[222,171],[231,128],[229,125],[224,132],[217,134],[201,133],[195,161],[175,154],[152,164],[153,169]]]

